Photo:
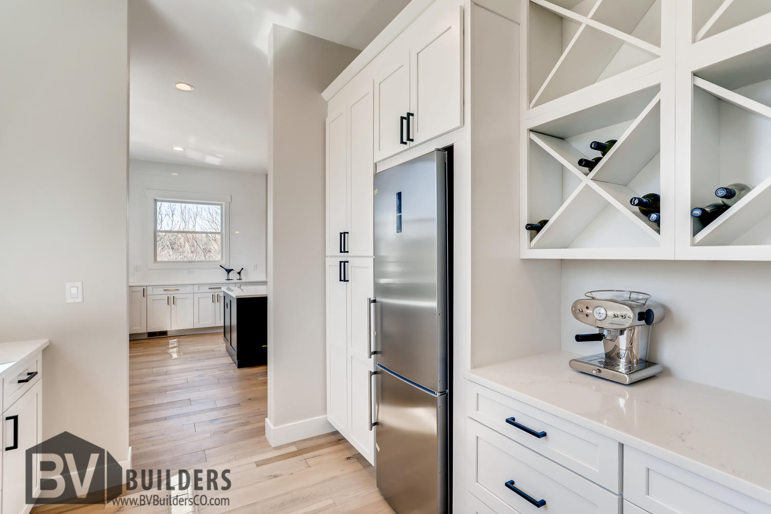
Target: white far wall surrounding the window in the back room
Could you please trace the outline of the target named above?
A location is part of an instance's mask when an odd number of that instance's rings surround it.
[[[177,173],[172,175],[172,173]],[[264,173],[217,170],[199,166],[129,161],[129,280],[132,284],[173,281],[220,281],[221,267],[153,268],[153,207],[146,190],[231,195],[228,223],[230,265],[244,280],[264,281],[265,271]],[[141,270],[134,267],[139,265]],[[190,273],[192,272],[192,273]],[[237,278],[235,272],[232,278]]]

